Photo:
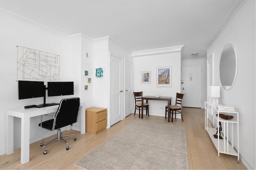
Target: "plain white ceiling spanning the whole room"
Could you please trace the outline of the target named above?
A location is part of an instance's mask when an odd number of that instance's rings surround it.
[[[0,8],[65,35],[110,36],[129,51],[184,45],[206,57],[238,0],[0,0]]]

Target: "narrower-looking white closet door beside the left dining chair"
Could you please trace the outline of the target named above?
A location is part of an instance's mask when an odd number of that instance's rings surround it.
[[[124,113],[125,117],[132,113],[132,63],[125,61],[124,65],[124,84],[125,84],[125,97],[124,97]]]

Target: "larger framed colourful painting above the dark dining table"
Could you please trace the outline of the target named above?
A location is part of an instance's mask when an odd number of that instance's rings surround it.
[[[172,87],[172,67],[157,67],[156,68],[156,86],[157,87]]]

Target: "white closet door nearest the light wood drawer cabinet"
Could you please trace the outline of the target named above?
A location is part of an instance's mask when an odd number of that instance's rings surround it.
[[[110,126],[122,119],[122,59],[110,55]]]

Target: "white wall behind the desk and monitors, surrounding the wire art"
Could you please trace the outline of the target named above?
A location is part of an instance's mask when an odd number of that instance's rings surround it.
[[[70,56],[70,42],[64,35],[55,34],[48,29],[38,27],[26,20],[17,19],[0,10],[0,155],[5,153],[5,120],[6,109],[24,107],[32,104],[42,104],[43,98],[18,100],[17,79],[17,47],[20,45],[40,51],[60,55],[60,80],[75,81],[80,75],[73,69],[74,59]],[[78,78],[77,78],[78,77]],[[20,78],[19,78],[20,80]],[[74,82],[75,95],[80,96],[76,88],[80,86]],[[72,96],[68,96],[72,97]],[[46,102],[59,102],[61,97],[46,98]],[[14,119],[14,149],[20,147],[20,119]],[[38,127],[40,117],[34,117],[30,121],[30,142],[38,141],[40,136],[49,136],[56,132],[46,131]],[[38,137],[40,139],[38,139]]]

